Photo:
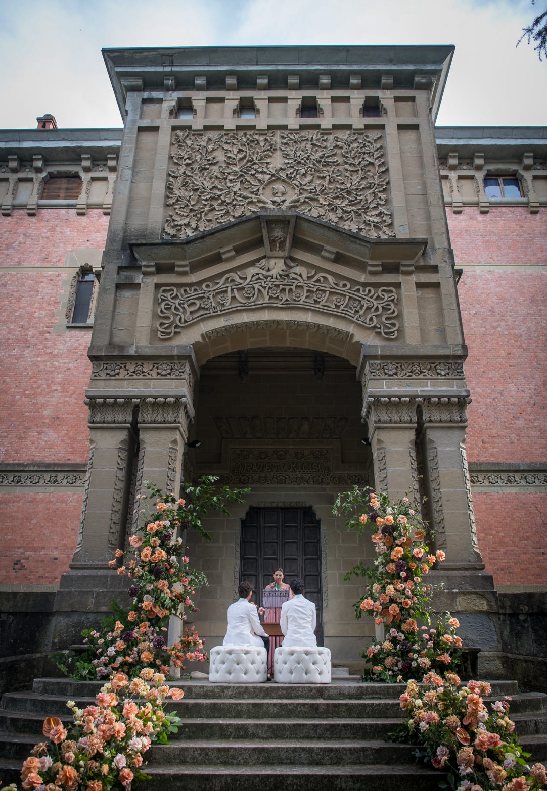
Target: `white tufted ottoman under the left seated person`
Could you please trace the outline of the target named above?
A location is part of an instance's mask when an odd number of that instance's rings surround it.
[[[215,645],[209,652],[209,680],[218,684],[256,684],[268,678],[264,645]]]

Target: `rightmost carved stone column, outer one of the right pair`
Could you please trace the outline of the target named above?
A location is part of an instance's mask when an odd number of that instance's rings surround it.
[[[465,396],[416,399],[424,422],[421,444],[431,527],[436,547],[446,552],[445,570],[477,568],[477,564],[484,568],[465,452],[465,407],[469,401]]]

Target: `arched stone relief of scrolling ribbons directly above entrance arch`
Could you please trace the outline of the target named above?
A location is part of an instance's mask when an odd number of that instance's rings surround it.
[[[161,339],[173,338],[182,327],[205,316],[260,306],[318,308],[347,316],[390,339],[397,338],[399,329],[394,288],[381,286],[375,290],[339,280],[288,258],[264,258],[245,270],[179,289],[163,286],[158,291],[158,303],[156,327]]]

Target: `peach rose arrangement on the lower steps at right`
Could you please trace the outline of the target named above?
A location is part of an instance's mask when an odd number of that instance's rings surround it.
[[[401,694],[407,718],[395,736],[420,744],[417,757],[448,773],[439,788],[532,791],[547,783],[543,764],[530,768],[526,763],[529,754],[522,751],[508,716],[510,698],[486,704],[482,696],[491,693],[484,681],[462,686],[456,673],[441,678],[429,672],[424,687],[411,680]]]

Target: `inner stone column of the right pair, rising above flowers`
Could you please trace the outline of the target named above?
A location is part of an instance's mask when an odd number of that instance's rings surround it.
[[[392,500],[418,501],[416,406],[406,396],[373,396],[363,407],[374,459],[374,483]]]

